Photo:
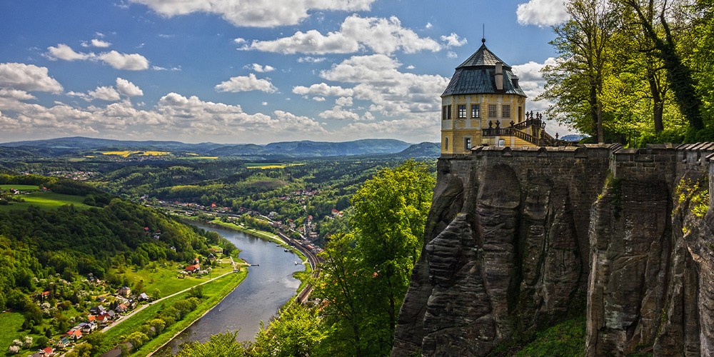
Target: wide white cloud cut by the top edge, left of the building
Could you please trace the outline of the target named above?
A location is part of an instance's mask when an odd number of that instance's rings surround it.
[[[235,26],[275,27],[296,25],[309,12],[366,11],[375,0],[131,0],[164,16],[194,12],[218,14]]]

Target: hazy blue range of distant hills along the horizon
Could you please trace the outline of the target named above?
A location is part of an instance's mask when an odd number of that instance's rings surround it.
[[[410,144],[395,139],[363,139],[339,143],[328,141],[284,141],[263,146],[256,144],[185,144],[180,141],[126,141],[76,136],[0,144],[0,157],[12,157],[16,156],[16,154],[22,154],[21,156],[62,156],[86,151],[132,150],[171,151],[223,157],[308,158],[396,154],[409,147]]]

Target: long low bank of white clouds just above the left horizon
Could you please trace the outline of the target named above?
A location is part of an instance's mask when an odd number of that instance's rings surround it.
[[[97,96],[111,92],[99,87]],[[79,94],[88,97],[88,94]],[[0,134],[3,139],[57,137],[67,135],[101,135],[106,138],[154,139],[156,136],[196,142],[207,139],[236,141],[236,134],[255,141],[276,138],[298,139],[306,134],[326,135],[327,131],[313,119],[286,111],[271,115],[247,114],[241,106],[202,101],[196,96],[169,93],[152,109],[136,109],[131,101],[116,101],[104,106],[74,108],[56,102],[52,106],[28,104],[21,91],[0,91]],[[7,115],[7,111],[13,113]],[[29,136],[31,133],[31,136]]]

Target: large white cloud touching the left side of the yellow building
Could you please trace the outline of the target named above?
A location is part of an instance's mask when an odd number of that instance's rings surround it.
[[[384,116],[438,111],[441,93],[448,79],[438,75],[417,75],[398,71],[395,59],[383,54],[353,56],[322,71],[329,81],[356,84],[353,97],[371,101]],[[293,90],[294,91],[294,90]],[[347,95],[343,95],[347,96]]]

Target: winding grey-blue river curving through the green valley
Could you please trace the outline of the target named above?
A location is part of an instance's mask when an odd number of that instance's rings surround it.
[[[208,341],[211,335],[226,331],[239,331],[238,340],[253,341],[261,326],[261,321],[270,320],[277,309],[296,294],[300,281],[293,278],[296,271],[305,270],[299,256],[283,251],[271,241],[249,236],[246,233],[232,231],[206,224],[196,224],[207,231],[215,231],[241,249],[240,257],[251,264],[248,276],[238,287],[226,296],[213,310],[209,311],[193,325],[186,328],[166,347],[173,353],[183,341]]]

